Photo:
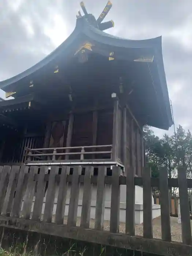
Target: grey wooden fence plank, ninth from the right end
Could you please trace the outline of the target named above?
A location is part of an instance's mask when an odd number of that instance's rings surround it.
[[[55,222],[57,224],[63,224],[63,217],[65,214],[65,204],[67,197],[67,175],[69,174],[70,167],[63,166],[61,169],[60,182],[59,182],[59,192],[57,197],[57,207],[55,214]]]

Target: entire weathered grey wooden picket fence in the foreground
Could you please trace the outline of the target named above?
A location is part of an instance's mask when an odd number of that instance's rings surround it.
[[[167,170],[159,178],[151,178],[145,168],[143,177],[134,177],[133,169],[127,177],[120,176],[120,167],[113,167],[112,176],[106,176],[106,167],[93,166],[0,166],[0,226],[24,229],[54,236],[112,245],[158,255],[192,255],[192,237],[189,216],[185,169],[178,169],[178,179],[168,179]],[[94,175],[95,174],[95,175]],[[68,184],[71,194],[68,216],[64,217]],[[83,185],[80,226],[76,226],[80,184]],[[94,227],[90,227],[92,184],[97,184]],[[103,231],[105,185],[111,185],[109,231]],[[120,185],[127,185],[125,233],[119,232]],[[135,185],[143,186],[143,237],[135,236]],[[151,188],[161,191],[162,239],[153,238]],[[178,187],[181,207],[182,242],[172,242],[169,212],[169,188]],[[53,216],[55,191],[57,206]],[[46,190],[46,199],[44,202]],[[34,202],[34,203],[33,203]],[[33,207],[32,207],[33,204]],[[43,214],[42,214],[43,212]]]

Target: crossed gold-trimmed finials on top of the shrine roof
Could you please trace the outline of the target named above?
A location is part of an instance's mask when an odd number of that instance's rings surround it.
[[[101,15],[99,15],[99,18],[97,20],[95,19],[93,14],[88,14],[83,2],[80,3],[80,6],[81,6],[81,8],[84,12],[84,17],[94,27],[97,27],[99,30],[106,30],[106,29],[110,29],[111,27],[114,27],[113,20],[110,20],[110,21],[107,21],[107,22],[102,22],[103,19],[105,19],[108,12],[110,11],[111,7],[112,7],[112,3],[110,1],[108,1],[108,3],[106,4],[105,8],[103,9]],[[77,15],[77,18],[81,18],[81,17],[82,17],[82,15],[79,11],[78,15]]]

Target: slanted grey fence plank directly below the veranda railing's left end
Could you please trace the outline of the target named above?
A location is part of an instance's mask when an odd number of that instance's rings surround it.
[[[23,191],[25,191],[25,188],[26,188],[26,185],[24,185],[24,183],[26,183],[24,181],[24,178],[25,178],[25,174],[28,173],[28,169],[29,167],[25,165],[21,166],[20,168],[11,217],[15,217],[15,218],[19,217],[21,204],[22,204]]]

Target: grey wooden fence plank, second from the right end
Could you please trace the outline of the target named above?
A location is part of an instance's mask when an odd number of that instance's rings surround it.
[[[167,169],[159,170],[159,189],[161,191],[161,234],[162,240],[171,241],[170,212],[169,212],[169,187]]]

